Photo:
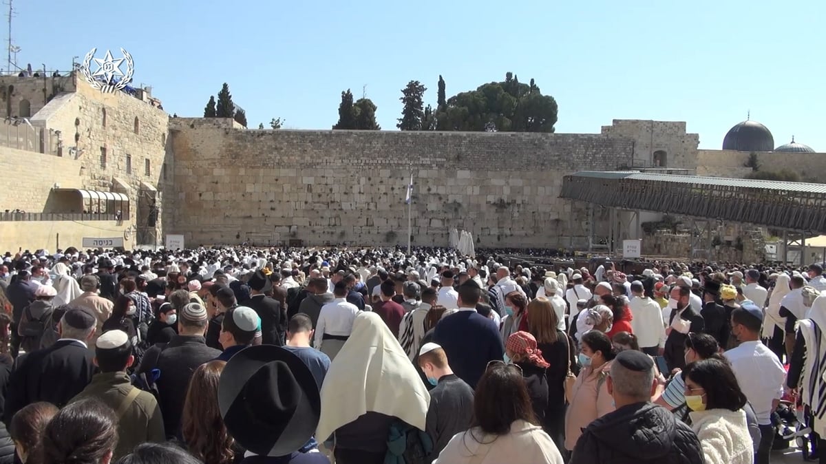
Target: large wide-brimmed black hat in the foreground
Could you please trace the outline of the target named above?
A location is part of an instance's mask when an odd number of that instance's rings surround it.
[[[218,382],[227,430],[259,456],[284,456],[304,446],[318,426],[321,396],[310,368],[275,345],[235,353]]]

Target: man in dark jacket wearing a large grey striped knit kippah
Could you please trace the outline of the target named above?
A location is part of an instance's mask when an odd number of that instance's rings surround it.
[[[167,438],[181,437],[181,414],[186,400],[189,379],[195,368],[218,357],[221,352],[207,347],[207,308],[198,303],[184,305],[178,312],[178,335],[169,343],[158,344],[146,350],[138,373],[157,369],[160,410],[164,415]]]

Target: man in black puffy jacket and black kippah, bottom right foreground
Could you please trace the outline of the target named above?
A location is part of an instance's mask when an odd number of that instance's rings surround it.
[[[616,410],[582,432],[570,464],[702,464],[700,440],[691,428],[651,402],[657,390],[651,357],[635,350],[619,353],[607,387]]]

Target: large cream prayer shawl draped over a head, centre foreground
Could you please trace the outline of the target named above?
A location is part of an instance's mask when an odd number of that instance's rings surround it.
[[[425,384],[387,324],[376,313],[361,312],[321,386],[316,437],[326,439],[368,411],[424,430],[429,405]]]

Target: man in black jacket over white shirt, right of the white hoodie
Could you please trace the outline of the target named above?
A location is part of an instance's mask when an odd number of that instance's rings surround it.
[[[691,307],[689,296],[691,290],[686,286],[674,286],[668,305],[672,307],[666,329],[666,346],[662,353],[665,357],[668,370],[686,367],[683,357],[683,347],[690,332],[702,332],[705,325],[703,316]]]

